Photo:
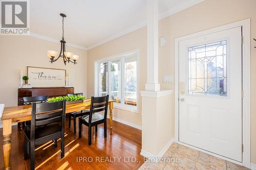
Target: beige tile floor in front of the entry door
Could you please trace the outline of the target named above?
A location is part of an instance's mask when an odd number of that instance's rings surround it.
[[[139,168],[156,170],[246,170],[248,168],[231,163],[229,161],[205,154],[203,152],[185,147],[184,145],[173,143],[163,155],[163,158],[179,158],[175,163],[154,163],[145,162]]]

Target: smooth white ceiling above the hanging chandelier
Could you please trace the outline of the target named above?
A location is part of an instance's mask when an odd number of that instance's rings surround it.
[[[163,18],[204,0],[159,0]],[[32,36],[61,39],[65,13],[65,40],[71,46],[89,49],[146,25],[146,0],[33,0],[30,1]]]

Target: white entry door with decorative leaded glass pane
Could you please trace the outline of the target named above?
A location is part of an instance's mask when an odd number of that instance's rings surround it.
[[[242,28],[179,42],[179,141],[242,162]]]

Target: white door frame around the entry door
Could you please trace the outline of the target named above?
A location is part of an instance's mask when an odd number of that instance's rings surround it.
[[[242,26],[242,35],[243,35],[243,48],[242,48],[242,76],[243,76],[243,91],[244,91],[244,98],[242,103],[242,117],[243,117],[243,131],[242,131],[242,138],[243,138],[243,159],[242,163],[237,162],[226,157],[222,157],[220,155],[207,152],[205,150],[201,150],[195,147],[190,148],[197,149],[199,151],[214,155],[216,157],[243,165],[245,167],[250,168],[250,18],[244,19],[241,21],[229,23],[227,25],[223,25],[220,27],[212,28],[209,30],[197,32],[194,34],[186,35],[183,37],[175,38],[175,141],[179,142],[179,41],[195,38],[199,36],[203,36],[210,33],[215,33],[219,31],[224,31],[231,28],[241,27]],[[186,145],[182,143],[183,145]]]

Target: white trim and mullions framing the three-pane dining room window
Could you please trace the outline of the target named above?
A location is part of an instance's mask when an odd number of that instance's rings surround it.
[[[106,60],[108,60],[108,61],[115,60],[115,59],[118,59],[118,58],[129,56],[129,55],[131,55],[133,53],[137,54],[137,68],[136,68],[136,71],[137,71],[137,106],[129,106],[129,105],[122,105],[122,104],[114,103],[114,108],[121,109],[121,110],[126,110],[126,111],[129,111],[129,112],[139,113],[139,58],[140,58],[139,57],[139,54],[140,54],[139,53],[139,49],[128,51],[128,52],[124,52],[124,53],[120,53],[120,54],[117,54],[117,55],[105,57],[105,58],[98,59],[98,60],[94,61],[94,96],[98,96],[98,89],[99,89],[98,88],[98,82],[99,82],[98,63],[104,62]],[[121,68],[122,68],[122,63],[123,62],[120,62]],[[108,71],[110,69],[109,64],[110,64],[110,62],[108,63]],[[122,70],[120,70],[120,75],[123,75]],[[124,90],[123,90],[123,81],[124,81],[123,78],[121,78],[120,81],[121,81],[120,82],[120,91],[124,92]],[[108,84],[108,86],[110,86],[110,82],[108,80],[107,80],[107,84]],[[109,93],[109,88],[108,88],[108,93]],[[121,94],[121,99],[122,100],[123,100],[123,98],[122,98],[123,95],[124,94]]]

